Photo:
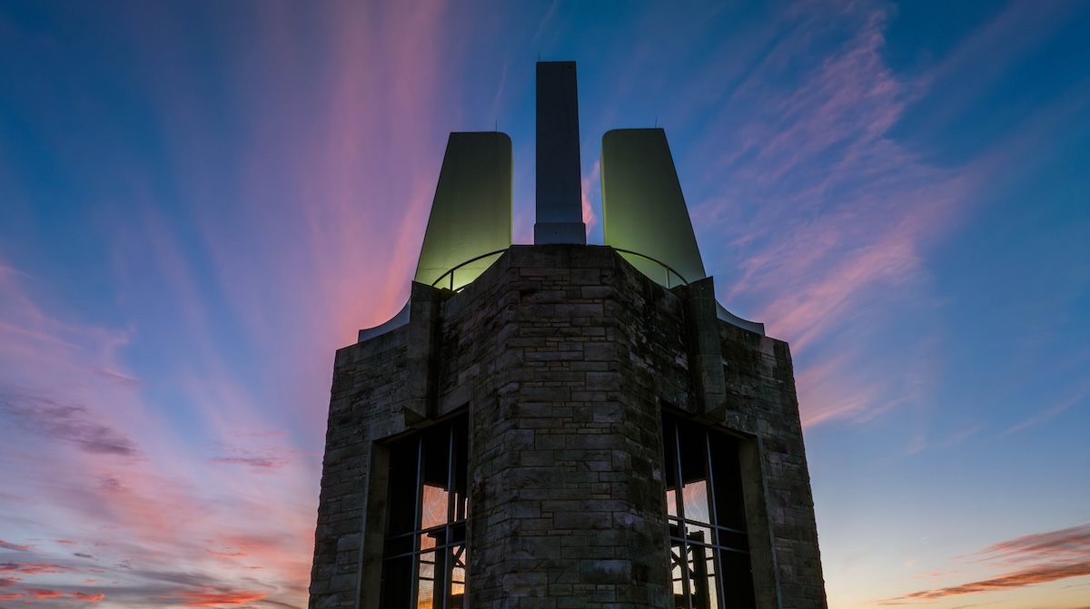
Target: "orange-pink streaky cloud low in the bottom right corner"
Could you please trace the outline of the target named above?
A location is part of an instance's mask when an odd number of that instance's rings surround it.
[[[1016,537],[961,558],[967,562],[984,563],[993,569],[1007,571],[995,577],[915,592],[880,600],[877,604],[929,601],[947,596],[1022,588],[1090,575],[1090,524]]]

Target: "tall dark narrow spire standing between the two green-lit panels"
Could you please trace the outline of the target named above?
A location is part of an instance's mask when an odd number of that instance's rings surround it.
[[[537,216],[534,243],[586,245],[574,61],[537,62]]]

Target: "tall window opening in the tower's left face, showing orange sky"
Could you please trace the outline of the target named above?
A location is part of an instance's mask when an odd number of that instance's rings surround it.
[[[459,609],[465,596],[467,422],[390,447],[384,546],[387,609]]]

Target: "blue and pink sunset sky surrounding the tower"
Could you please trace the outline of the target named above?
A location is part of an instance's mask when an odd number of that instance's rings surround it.
[[[829,607],[1090,607],[1090,4],[0,0],[0,607],[301,608],[336,349],[534,62],[788,341]]]

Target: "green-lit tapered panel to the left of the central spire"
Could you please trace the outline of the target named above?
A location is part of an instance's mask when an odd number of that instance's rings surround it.
[[[510,245],[511,138],[451,133],[414,281],[458,290]]]

